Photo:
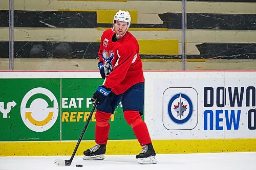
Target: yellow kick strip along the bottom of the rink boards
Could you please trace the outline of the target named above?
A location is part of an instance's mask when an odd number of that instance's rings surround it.
[[[153,140],[157,154],[256,152],[256,138]],[[77,141],[0,142],[0,156],[72,155]],[[93,147],[94,141],[82,141],[76,155]],[[106,155],[136,155],[141,152],[137,140],[109,140]]]

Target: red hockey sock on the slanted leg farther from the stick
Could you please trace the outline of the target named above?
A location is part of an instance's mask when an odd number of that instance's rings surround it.
[[[148,133],[146,124],[143,122],[138,111],[124,111],[124,118],[126,122],[133,128],[134,134],[141,146],[151,143],[150,134]]]

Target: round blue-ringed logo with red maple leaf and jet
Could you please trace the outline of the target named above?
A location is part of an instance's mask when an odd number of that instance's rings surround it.
[[[176,124],[186,123],[192,116],[193,103],[189,96],[177,93],[172,96],[168,103],[168,115]]]

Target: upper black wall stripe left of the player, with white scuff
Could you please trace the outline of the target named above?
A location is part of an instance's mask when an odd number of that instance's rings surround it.
[[[14,11],[15,27],[95,28],[97,12]],[[9,27],[9,12],[0,10],[0,27]]]

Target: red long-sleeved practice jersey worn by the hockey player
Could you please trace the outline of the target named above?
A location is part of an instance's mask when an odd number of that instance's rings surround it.
[[[114,67],[103,85],[115,94],[121,94],[131,86],[144,82],[144,76],[136,38],[127,31],[121,39],[113,42],[114,34],[112,29],[103,32],[98,55],[99,61],[104,64],[106,60],[111,60]]]

